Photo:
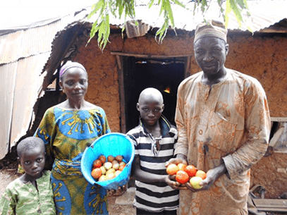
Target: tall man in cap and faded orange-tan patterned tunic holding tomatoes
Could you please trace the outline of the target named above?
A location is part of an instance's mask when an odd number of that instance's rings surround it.
[[[207,172],[201,189],[180,191],[180,214],[248,214],[250,167],[267,150],[270,131],[267,98],[259,82],[226,68],[227,31],[214,20],[197,25],[195,60],[202,68],[178,87],[178,144],[171,163]],[[171,177],[171,179],[174,179]]]

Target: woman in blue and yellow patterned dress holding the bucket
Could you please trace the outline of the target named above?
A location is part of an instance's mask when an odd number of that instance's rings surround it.
[[[57,214],[109,214],[106,190],[88,183],[80,171],[85,148],[111,132],[106,114],[85,101],[87,71],[80,63],[62,66],[59,85],[67,100],[47,109],[35,133],[46,145]]]

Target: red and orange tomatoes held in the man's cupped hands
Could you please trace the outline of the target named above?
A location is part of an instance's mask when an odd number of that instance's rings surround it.
[[[193,165],[185,164],[169,164],[166,167],[166,173],[170,176],[176,175],[176,181],[181,184],[190,182],[193,188],[200,189],[200,181],[207,178],[207,174],[204,171],[198,170]]]

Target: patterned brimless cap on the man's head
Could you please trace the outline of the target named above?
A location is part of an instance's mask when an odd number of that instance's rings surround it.
[[[207,20],[207,22],[200,23],[195,29],[195,43],[198,39],[203,37],[217,37],[226,42],[227,30],[224,23],[216,20]]]

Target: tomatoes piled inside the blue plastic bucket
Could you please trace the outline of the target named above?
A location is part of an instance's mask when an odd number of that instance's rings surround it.
[[[126,162],[123,161],[123,156],[104,156],[100,155],[93,161],[91,176],[95,180],[104,181],[116,178],[125,168]]]

